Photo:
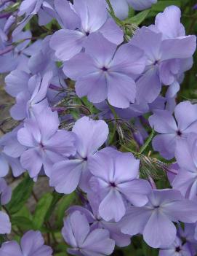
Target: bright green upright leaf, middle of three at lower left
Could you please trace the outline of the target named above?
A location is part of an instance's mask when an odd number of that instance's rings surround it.
[[[45,217],[52,204],[53,196],[51,193],[44,194],[36,205],[36,210],[33,215],[34,228],[40,229],[44,223]]]

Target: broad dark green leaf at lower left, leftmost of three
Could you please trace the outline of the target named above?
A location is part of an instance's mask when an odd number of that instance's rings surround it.
[[[31,195],[31,191],[33,190],[33,179],[29,176],[25,176],[22,182],[20,182],[17,187],[13,190],[12,199],[7,204],[7,210],[9,214],[15,214],[20,211],[20,209],[24,206],[26,201]]]

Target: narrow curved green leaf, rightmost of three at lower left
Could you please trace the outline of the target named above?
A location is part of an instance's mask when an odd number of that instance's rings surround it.
[[[63,218],[65,217],[65,210],[68,209],[69,206],[75,201],[76,194],[73,192],[70,195],[64,195],[60,200],[56,216],[57,216],[57,226],[58,228],[62,228],[63,226]]]

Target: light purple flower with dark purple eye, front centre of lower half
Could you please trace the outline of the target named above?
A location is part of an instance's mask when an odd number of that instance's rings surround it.
[[[135,206],[148,202],[150,185],[139,177],[140,160],[132,153],[104,149],[88,162],[93,177],[89,180],[92,191],[101,196],[99,214],[106,221],[118,222],[126,213],[126,201]]]

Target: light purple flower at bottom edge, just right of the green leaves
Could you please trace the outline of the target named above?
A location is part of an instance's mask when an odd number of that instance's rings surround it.
[[[110,255],[115,246],[115,242],[109,238],[108,230],[91,230],[87,218],[79,211],[65,219],[62,233],[66,243],[72,247],[68,249],[71,255]]]

